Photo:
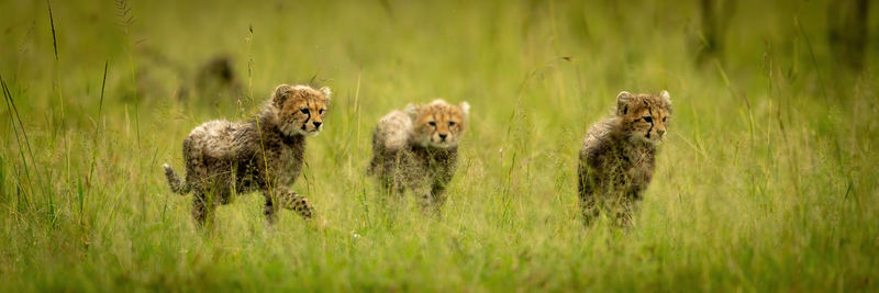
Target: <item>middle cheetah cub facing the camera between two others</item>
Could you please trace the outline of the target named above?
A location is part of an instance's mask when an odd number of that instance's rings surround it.
[[[381,117],[372,133],[374,157],[367,173],[378,177],[382,194],[402,195],[408,188],[425,211],[438,212],[455,173],[469,108],[467,102],[435,100]]]

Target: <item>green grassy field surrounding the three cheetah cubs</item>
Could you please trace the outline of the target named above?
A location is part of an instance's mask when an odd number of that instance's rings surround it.
[[[697,1],[244,2],[0,1],[1,292],[879,290],[876,7],[856,70],[828,1],[742,0],[721,50]],[[213,56],[237,89],[196,86]],[[307,82],[336,94],[293,187],[326,226],[243,194],[196,227],[162,164]],[[663,89],[634,226],[583,226],[587,127]],[[472,105],[441,218],[364,174],[377,120],[435,98]]]

